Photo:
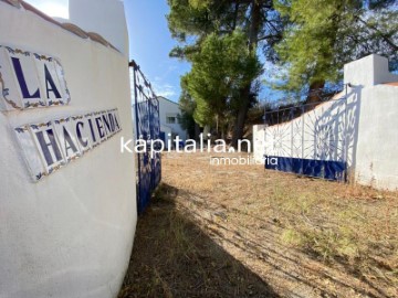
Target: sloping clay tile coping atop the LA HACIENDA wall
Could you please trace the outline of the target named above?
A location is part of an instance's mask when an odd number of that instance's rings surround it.
[[[107,40],[105,40],[103,36],[101,36],[98,33],[95,32],[86,32],[83,29],[81,29],[80,26],[65,22],[65,23],[61,23],[56,20],[54,20],[53,18],[49,17],[48,14],[45,14],[44,12],[38,10],[36,8],[34,8],[33,6],[27,3],[23,0],[0,0],[0,2],[4,2],[8,3],[12,7],[15,7],[18,9],[23,8],[24,10],[31,11],[34,14],[39,15],[40,18],[44,19],[45,21],[53,23],[75,35],[77,35],[81,39],[90,39],[94,42],[101,43],[102,45],[106,46],[106,47],[112,47],[114,50],[116,50],[117,52],[119,52],[113,44],[111,44]]]

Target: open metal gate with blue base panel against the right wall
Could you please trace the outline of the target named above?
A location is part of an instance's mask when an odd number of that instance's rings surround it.
[[[265,168],[346,181],[355,169],[363,86],[349,88],[341,98],[277,110],[264,140],[265,155],[279,162]]]

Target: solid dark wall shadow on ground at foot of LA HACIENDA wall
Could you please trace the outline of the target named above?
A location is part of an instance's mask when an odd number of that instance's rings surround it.
[[[177,194],[161,183],[139,217],[118,298],[280,297],[176,207]]]

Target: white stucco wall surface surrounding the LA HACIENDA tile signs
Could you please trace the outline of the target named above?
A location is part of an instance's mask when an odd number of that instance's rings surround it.
[[[0,297],[116,297],[136,224],[134,156],[119,153],[133,138],[128,58],[2,1],[0,43],[59,57],[72,99],[0,114]],[[122,132],[31,182],[13,127],[108,108]]]

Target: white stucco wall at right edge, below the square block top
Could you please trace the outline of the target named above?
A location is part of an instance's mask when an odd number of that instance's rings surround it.
[[[398,86],[377,85],[362,95],[356,181],[398,189]]]

